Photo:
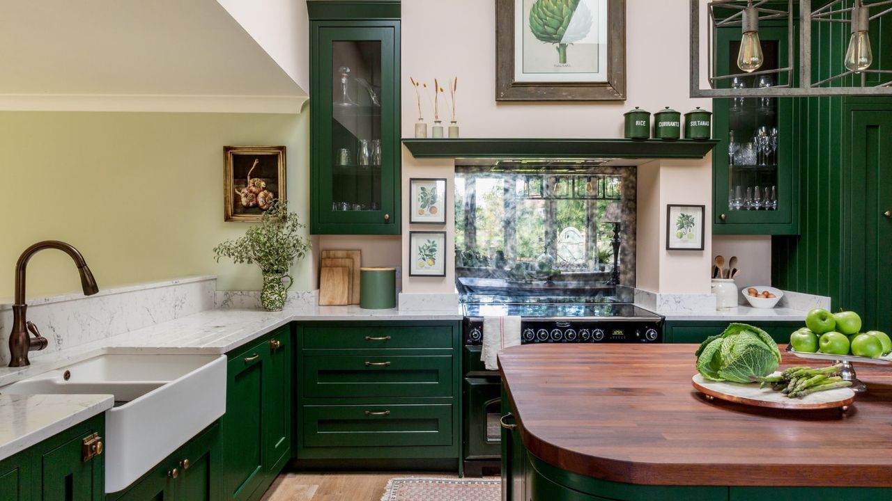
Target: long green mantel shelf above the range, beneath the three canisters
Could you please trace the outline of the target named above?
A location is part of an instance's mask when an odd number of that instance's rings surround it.
[[[646,139],[471,138],[410,139],[402,144],[417,159],[455,158],[580,158],[702,159],[717,139],[663,141]]]

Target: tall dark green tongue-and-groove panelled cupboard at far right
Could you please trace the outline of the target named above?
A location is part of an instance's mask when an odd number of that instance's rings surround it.
[[[824,49],[813,53],[814,78],[843,70],[849,32],[814,23]],[[892,19],[871,21],[878,67],[892,65]],[[876,86],[892,75],[871,75]],[[832,308],[851,309],[864,330],[892,332],[892,98],[801,98],[802,224],[799,236],[772,237],[772,284],[830,296]]]

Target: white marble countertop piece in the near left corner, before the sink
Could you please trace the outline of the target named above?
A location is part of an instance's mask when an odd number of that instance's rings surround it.
[[[0,460],[112,405],[111,395],[0,395]]]

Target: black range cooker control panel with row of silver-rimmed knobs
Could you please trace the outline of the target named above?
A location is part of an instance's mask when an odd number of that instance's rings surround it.
[[[663,320],[522,320],[522,344],[549,342],[663,342]],[[483,320],[465,318],[465,344],[483,344]]]

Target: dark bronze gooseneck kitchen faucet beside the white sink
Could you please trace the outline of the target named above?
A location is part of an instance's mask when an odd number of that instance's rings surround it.
[[[37,242],[22,252],[19,261],[15,264],[15,303],[12,305],[12,333],[9,335],[10,367],[30,365],[29,351],[46,348],[46,338],[40,335],[37,326],[29,322],[25,316],[28,309],[28,305],[25,304],[25,268],[28,267],[31,256],[44,249],[58,249],[68,254],[78,266],[80,286],[84,289],[84,294],[92,296],[99,292],[93,273],[87,267],[87,261],[70,243],[46,240]],[[34,334],[34,339],[29,339],[29,331]]]

